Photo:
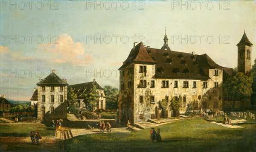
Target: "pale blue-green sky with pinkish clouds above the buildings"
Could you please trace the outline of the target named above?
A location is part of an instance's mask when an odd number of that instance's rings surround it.
[[[207,53],[237,67],[247,34],[256,58],[256,1],[0,1],[0,94],[29,100],[55,69],[68,84],[119,88],[119,71],[134,42]]]

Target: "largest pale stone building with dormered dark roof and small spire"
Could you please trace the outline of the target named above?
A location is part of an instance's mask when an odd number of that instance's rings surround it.
[[[192,110],[222,110],[223,80],[232,76],[233,69],[216,64],[207,54],[171,51],[166,34],[163,40],[161,49],[134,43],[119,68],[119,117],[124,124],[170,117],[172,110],[161,112],[158,101],[166,99],[170,105],[178,96],[182,98],[180,110],[190,103]],[[250,49],[244,42],[238,47]]]

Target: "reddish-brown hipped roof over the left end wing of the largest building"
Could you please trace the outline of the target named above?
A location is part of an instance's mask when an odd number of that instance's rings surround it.
[[[131,52],[128,56],[128,58],[123,62],[123,65],[119,68],[122,69],[126,65],[131,64],[131,63],[147,63],[147,64],[155,64],[154,59],[152,59],[149,55],[148,52],[146,51],[143,42],[140,42],[135,46],[134,49],[131,49]]]

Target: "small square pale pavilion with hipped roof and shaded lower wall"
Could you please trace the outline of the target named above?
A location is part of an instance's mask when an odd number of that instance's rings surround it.
[[[37,83],[32,100],[37,100],[38,119],[67,118],[67,85],[66,79],[59,78],[55,70]]]

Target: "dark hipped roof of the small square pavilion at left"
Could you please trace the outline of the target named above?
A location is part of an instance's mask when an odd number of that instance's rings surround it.
[[[49,74],[46,78],[42,79],[40,82],[37,83],[38,86],[66,86],[68,85],[67,82],[62,80],[60,77],[58,77],[54,72]]]

